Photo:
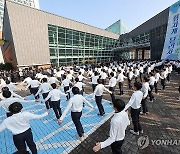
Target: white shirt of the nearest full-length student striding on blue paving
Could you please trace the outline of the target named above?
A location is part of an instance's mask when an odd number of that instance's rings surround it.
[[[79,94],[74,95],[72,98],[70,98],[66,109],[64,110],[62,116],[60,117],[60,120],[63,120],[65,118],[70,108],[72,112],[81,112],[83,108],[83,103],[86,103],[91,108],[93,108],[93,106],[82,95]]]

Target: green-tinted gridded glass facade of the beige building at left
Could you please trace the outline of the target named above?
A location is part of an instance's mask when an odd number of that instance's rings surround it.
[[[54,66],[112,60],[116,39],[48,25],[50,61]]]

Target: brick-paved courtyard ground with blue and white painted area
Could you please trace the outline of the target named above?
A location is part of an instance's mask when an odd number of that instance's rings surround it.
[[[150,111],[149,115],[140,117],[144,133],[140,136],[134,136],[129,133],[132,128],[128,127],[122,150],[124,154],[178,154],[180,146],[178,145],[158,145],[154,144],[157,140],[180,140],[180,101],[178,97],[178,86],[180,84],[180,76],[173,73],[171,83],[167,84],[165,91],[160,90],[160,95],[155,95],[156,100],[148,103]],[[116,98],[122,98],[127,102],[132,94],[125,85],[125,95],[116,95]],[[161,86],[159,86],[161,88]],[[88,86],[85,88],[85,97],[90,100],[92,98],[92,89]],[[116,94],[118,94],[118,87]],[[26,92],[21,92],[25,95]],[[33,99],[27,96],[28,100]],[[37,144],[38,154],[93,154],[92,147],[98,141],[104,141],[109,134],[110,117],[113,114],[112,105],[109,103],[109,94],[104,95],[103,105],[106,114],[103,117],[97,116],[97,109],[92,110],[88,106],[83,108],[83,116],[81,118],[87,138],[81,144],[77,142],[77,133],[70,117],[70,111],[61,125],[57,124],[53,111],[47,117],[31,121],[34,140]],[[95,102],[92,103],[95,106]],[[65,109],[67,101],[65,97],[61,100],[62,110]],[[37,102],[24,103],[24,110],[41,114],[45,112],[44,104]],[[5,118],[5,113],[0,108],[0,122]],[[109,120],[108,120],[109,119]],[[141,136],[149,138],[149,145],[144,149],[140,149],[137,140]],[[157,143],[157,142],[156,142]],[[0,133],[0,153],[12,154],[16,151],[13,145],[12,134],[6,130]],[[107,147],[99,154],[110,154],[111,149]]]

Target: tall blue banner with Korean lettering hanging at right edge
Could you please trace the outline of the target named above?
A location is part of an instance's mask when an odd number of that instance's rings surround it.
[[[180,60],[180,1],[169,9],[169,19],[161,60]]]

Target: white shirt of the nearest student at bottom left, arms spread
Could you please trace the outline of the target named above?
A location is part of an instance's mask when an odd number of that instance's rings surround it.
[[[30,112],[13,114],[11,117],[8,117],[2,122],[0,125],[0,132],[7,128],[13,135],[21,134],[30,128],[29,120],[40,119],[47,115],[47,112],[41,115],[36,115]]]

